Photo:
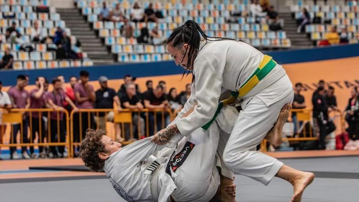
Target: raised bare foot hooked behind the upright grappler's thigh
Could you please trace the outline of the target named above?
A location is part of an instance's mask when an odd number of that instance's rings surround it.
[[[280,110],[277,122],[269,130],[267,136],[264,138],[274,146],[279,146],[282,143],[282,130],[285,122],[289,117],[289,112],[292,109],[292,103],[285,104]]]

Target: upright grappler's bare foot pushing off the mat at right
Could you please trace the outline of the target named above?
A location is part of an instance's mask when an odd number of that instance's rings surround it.
[[[290,202],[300,202],[302,200],[302,194],[304,189],[308,187],[314,180],[314,173],[302,172],[294,178],[293,182],[290,182],[293,185],[294,193]]]

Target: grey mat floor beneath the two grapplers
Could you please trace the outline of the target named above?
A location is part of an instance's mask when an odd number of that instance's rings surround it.
[[[359,156],[282,159],[281,161],[294,168],[313,171],[316,174],[316,179],[304,192],[303,202],[358,201]],[[0,201],[124,202],[104,175],[14,180],[5,179],[6,172],[6,170],[0,170]],[[11,175],[16,172],[14,171]],[[31,172],[33,174],[46,173],[41,170],[32,170]],[[53,171],[47,172],[53,173]],[[63,171],[58,172],[60,174]],[[292,186],[279,178],[272,180],[266,187],[250,178],[236,175],[235,183],[237,185],[237,201],[241,202],[284,202],[289,201],[293,192]]]

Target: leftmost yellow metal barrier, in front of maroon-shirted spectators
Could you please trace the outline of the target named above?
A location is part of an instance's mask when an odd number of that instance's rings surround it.
[[[51,134],[51,113],[56,112],[57,119],[56,119],[56,129],[57,129],[57,141],[54,140],[55,134]],[[5,136],[5,141],[0,141],[0,148],[1,147],[22,147],[24,150],[27,147],[30,147],[31,152],[33,152],[33,147],[44,147],[44,146],[66,146],[70,150],[70,141],[68,139],[69,134],[69,113],[66,110],[54,110],[54,109],[10,109],[10,110],[1,110],[0,113],[2,114],[2,124],[0,124],[0,138],[2,140],[2,136]],[[66,130],[66,137],[65,141],[60,141],[60,113],[65,114],[65,130]],[[43,115],[43,114],[47,114]],[[33,117],[33,115],[37,115],[37,117]],[[43,118],[47,118],[47,134],[43,134],[45,130],[45,123]],[[24,123],[25,121],[25,123]],[[38,129],[34,129],[34,121],[38,121]],[[6,127],[10,126],[10,131],[5,132]],[[26,129],[24,128],[26,126]],[[17,138],[18,130],[16,130],[17,134],[14,134],[14,127],[19,128],[20,130],[20,137]],[[23,128],[26,131],[23,131]],[[37,132],[37,141],[35,141],[36,133]],[[45,142],[46,138],[46,142]],[[18,141],[19,140],[19,141]],[[70,157],[70,156],[69,156]]]

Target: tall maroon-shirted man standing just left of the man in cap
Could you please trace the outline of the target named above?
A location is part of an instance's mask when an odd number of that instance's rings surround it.
[[[85,70],[80,72],[80,81],[81,83],[76,83],[74,86],[74,92],[76,97],[76,107],[79,109],[93,109],[93,103],[96,99],[95,91],[93,86],[88,83],[89,73]],[[80,112],[81,113],[81,112]],[[81,131],[79,124],[74,124],[74,142],[80,142],[80,134],[84,138],[86,136],[86,129],[94,128],[93,125],[93,113],[81,113],[81,122],[80,122],[80,113],[74,114],[74,123],[81,124]],[[90,120],[88,120],[88,117]],[[90,123],[90,124],[89,124]],[[75,153],[77,156],[77,153]]]

